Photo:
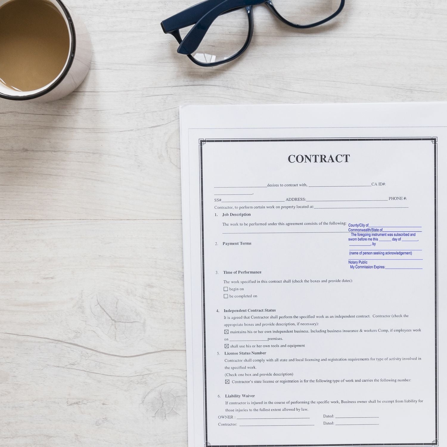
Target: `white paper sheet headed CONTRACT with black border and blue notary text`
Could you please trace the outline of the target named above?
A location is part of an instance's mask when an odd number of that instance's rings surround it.
[[[181,108],[190,447],[447,446],[446,125]]]

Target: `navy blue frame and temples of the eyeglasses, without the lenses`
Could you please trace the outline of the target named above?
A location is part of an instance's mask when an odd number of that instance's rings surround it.
[[[180,44],[177,49],[177,53],[188,56],[195,64],[200,65],[201,67],[213,67],[215,65],[220,65],[236,59],[248,48],[253,37],[254,29],[253,6],[257,4],[266,4],[274,16],[278,17],[278,19],[286,25],[294,28],[305,29],[313,28],[314,26],[322,25],[323,23],[332,20],[342,12],[343,7],[345,6],[345,0],[340,0],[340,6],[335,13],[323,20],[311,23],[309,25],[297,25],[296,23],[292,23],[291,21],[285,19],[280,13],[278,13],[274,7],[274,4],[272,3],[272,0],[205,0],[202,3],[191,6],[181,13],[175,14],[172,17],[162,21],[161,28],[165,34],[172,34]],[[205,34],[207,34],[208,29],[213,24],[215,19],[221,14],[230,13],[242,8],[245,8],[249,21],[249,31],[244,46],[242,46],[242,48],[235,55],[218,62],[203,63],[194,59],[191,54],[197,50],[200,42],[202,42],[202,39],[205,37]],[[189,33],[186,34],[185,38],[182,39],[179,30],[192,25],[194,26],[190,29]]]

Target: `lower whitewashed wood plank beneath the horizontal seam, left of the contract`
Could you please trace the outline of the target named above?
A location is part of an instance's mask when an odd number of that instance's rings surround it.
[[[185,445],[181,223],[0,228],[0,445]]]

